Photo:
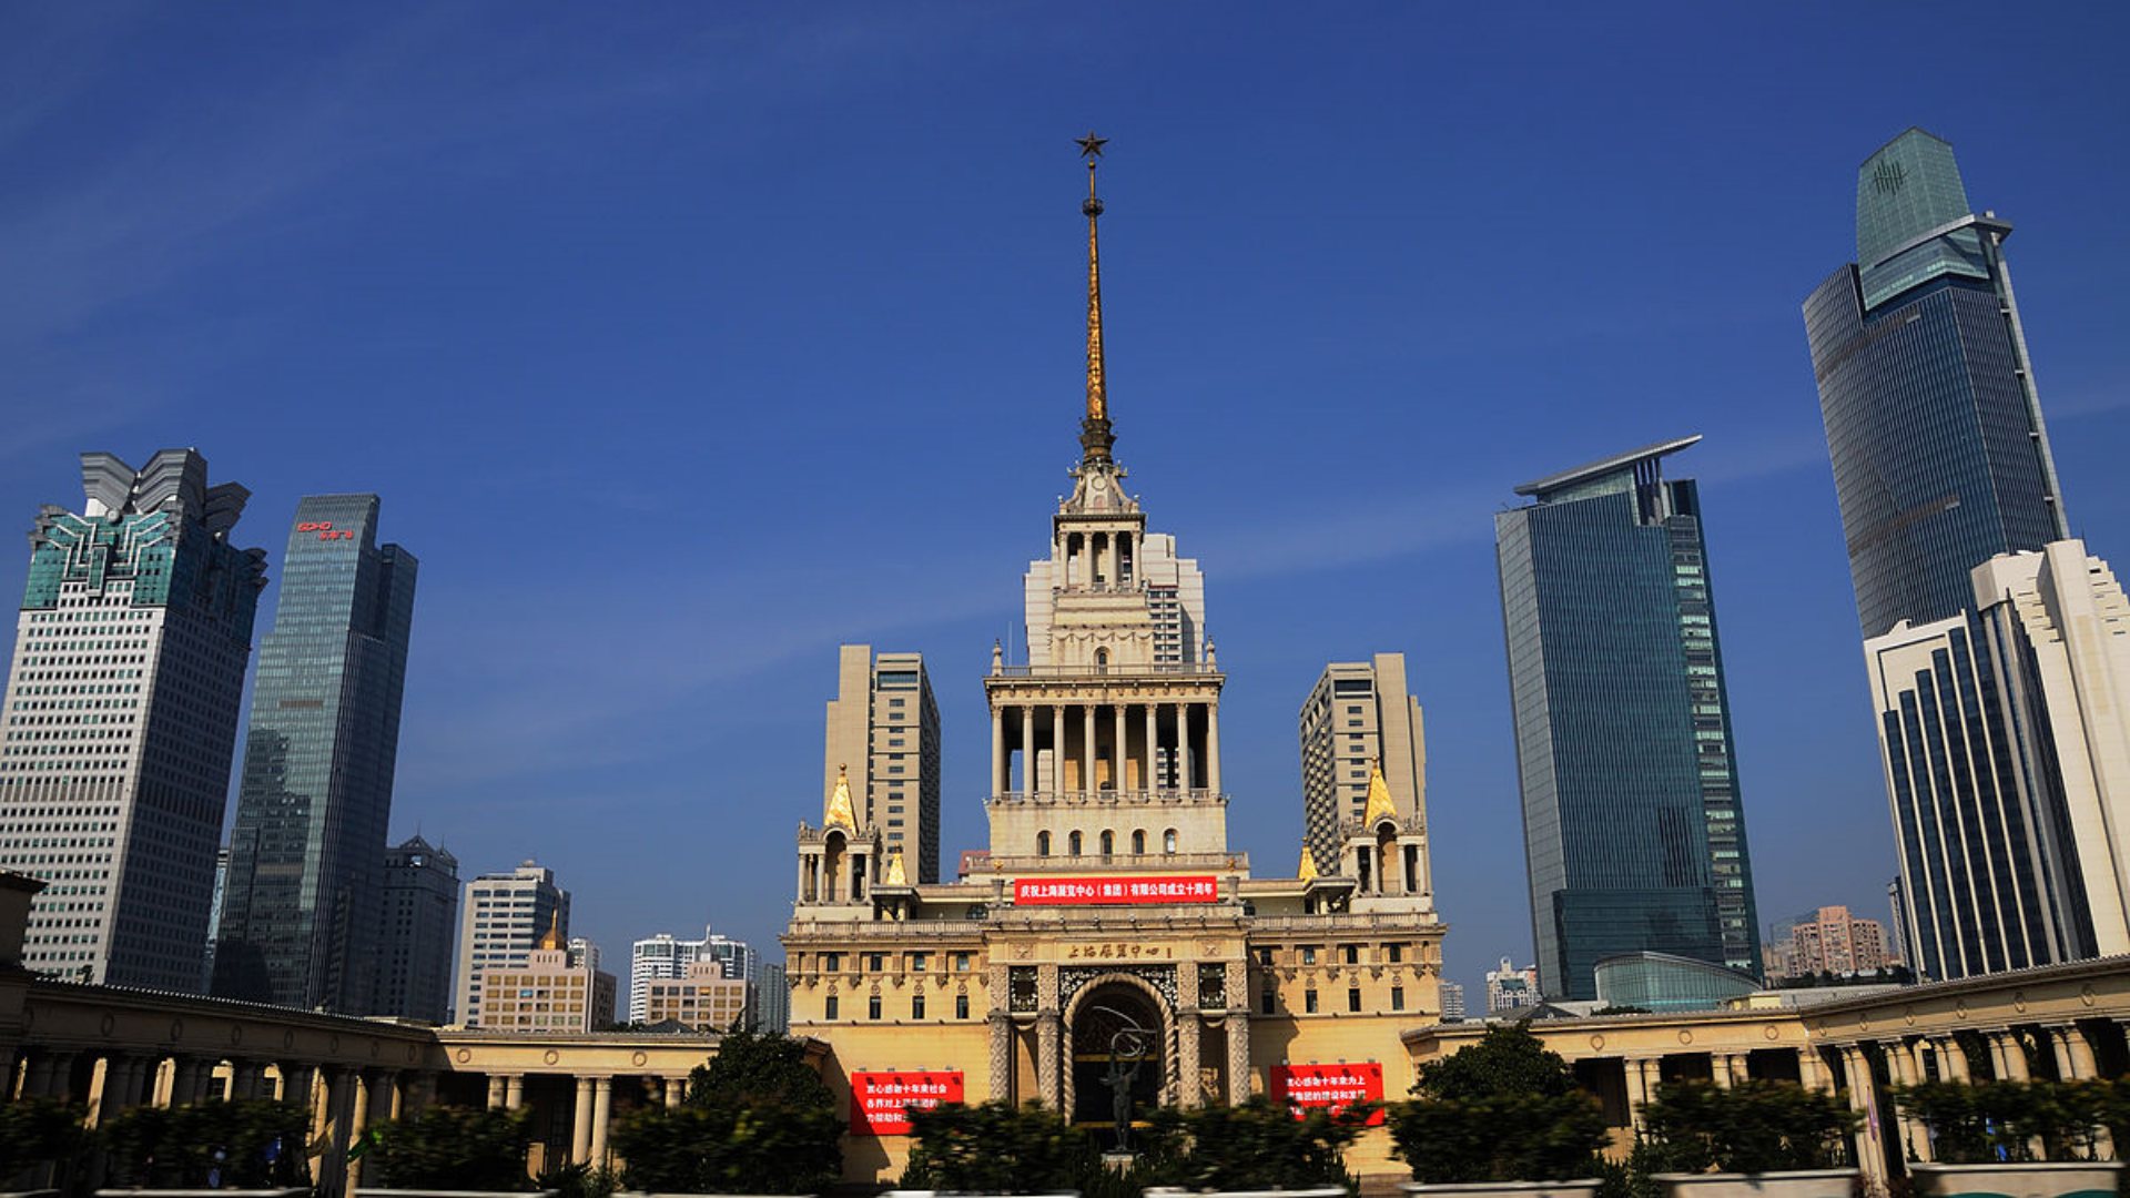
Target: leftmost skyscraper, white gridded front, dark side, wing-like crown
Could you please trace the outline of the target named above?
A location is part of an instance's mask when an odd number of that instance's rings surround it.
[[[49,883],[26,968],[192,993],[266,554],[230,544],[251,492],[194,450],[81,454],[81,484],[30,533],[0,868]]]

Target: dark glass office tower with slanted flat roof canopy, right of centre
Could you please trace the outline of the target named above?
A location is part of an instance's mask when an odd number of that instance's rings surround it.
[[[1753,868],[1691,480],[1649,446],[1495,516],[1531,929],[1546,998],[1657,951],[1759,976]]]

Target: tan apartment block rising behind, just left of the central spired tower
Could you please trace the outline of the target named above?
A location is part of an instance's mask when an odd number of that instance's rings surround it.
[[[886,833],[888,853],[914,857],[918,883],[939,880],[939,703],[924,654],[846,644],[829,701],[826,784],[850,772],[858,814]]]

